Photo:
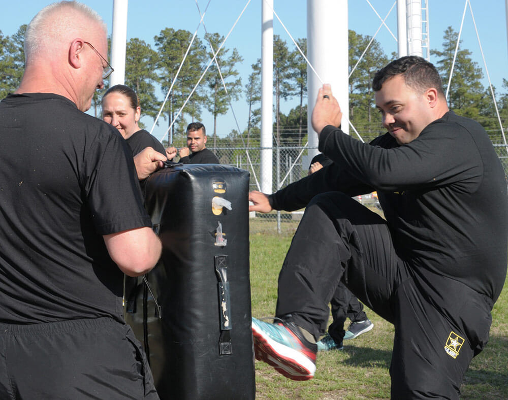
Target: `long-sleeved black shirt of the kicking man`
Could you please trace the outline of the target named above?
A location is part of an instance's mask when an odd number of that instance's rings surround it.
[[[389,134],[364,144],[326,126],[319,148],[334,163],[270,195],[277,210],[317,193],[377,190],[397,254],[414,268],[499,296],[506,275],[508,198],[502,165],[483,127],[454,112],[399,146]]]

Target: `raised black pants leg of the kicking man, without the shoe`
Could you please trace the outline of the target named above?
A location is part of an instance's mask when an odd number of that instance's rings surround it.
[[[320,194],[307,206],[282,265],[276,316],[319,339],[342,279],[364,304],[393,322],[390,299],[408,277],[383,218],[343,193]]]

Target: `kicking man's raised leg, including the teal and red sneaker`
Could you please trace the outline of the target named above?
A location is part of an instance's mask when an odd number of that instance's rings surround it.
[[[341,278],[393,321],[389,299],[405,277],[399,264],[385,220],[339,192],[314,197],[279,275],[276,317],[283,322],[252,322],[256,357],[287,377],[310,379],[317,349],[312,342],[326,329],[328,304]]]

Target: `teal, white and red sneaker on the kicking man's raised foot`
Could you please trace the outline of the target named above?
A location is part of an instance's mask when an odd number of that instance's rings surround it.
[[[294,381],[314,377],[317,345],[307,341],[294,323],[272,324],[252,318],[252,336],[256,359]]]

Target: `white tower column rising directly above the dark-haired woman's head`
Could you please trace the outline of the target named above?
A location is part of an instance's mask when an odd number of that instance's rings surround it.
[[[111,35],[111,66],[114,71],[109,78],[110,86],[125,83],[125,47],[127,44],[128,0],[113,1],[113,29]]]

